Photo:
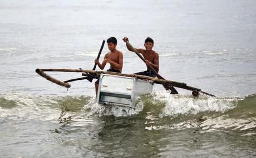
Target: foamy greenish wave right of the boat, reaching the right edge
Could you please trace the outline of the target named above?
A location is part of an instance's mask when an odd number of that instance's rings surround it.
[[[173,124],[151,124],[146,130],[195,129],[195,132],[202,133],[218,130],[240,131],[243,136],[256,135],[256,94],[243,98],[193,98],[158,91],[154,98],[165,104],[159,113],[161,121]]]

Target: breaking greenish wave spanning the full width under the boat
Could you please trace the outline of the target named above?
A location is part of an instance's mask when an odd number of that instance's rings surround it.
[[[134,108],[127,108],[97,104],[95,96],[41,96],[13,93],[0,94],[0,117],[17,116],[54,120],[57,114],[65,111],[83,113],[87,116],[142,115],[145,118],[168,117],[171,120],[216,114],[228,119],[247,120],[256,117],[255,103],[256,94],[243,98],[217,98],[206,95],[194,98],[191,95],[171,95],[166,91],[155,91],[152,94],[141,95]]]

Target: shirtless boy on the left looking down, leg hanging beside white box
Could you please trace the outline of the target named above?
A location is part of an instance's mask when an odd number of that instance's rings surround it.
[[[94,62],[99,66],[101,70],[105,68],[107,63],[110,64],[110,68],[107,72],[122,72],[122,52],[116,49],[117,40],[115,37],[110,37],[107,39],[107,47],[109,47],[110,52],[104,57],[103,62],[100,64],[99,60],[95,59]],[[98,94],[99,79],[95,82],[96,95]]]

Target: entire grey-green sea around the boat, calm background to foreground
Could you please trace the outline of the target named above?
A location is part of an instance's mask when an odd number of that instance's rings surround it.
[[[1,1],[0,157],[255,157],[255,11],[254,1]],[[35,73],[92,69],[110,36],[123,73],[145,65],[121,38],[142,48],[149,36],[164,78],[217,97],[157,85],[134,109],[101,106],[92,83],[67,91]]]

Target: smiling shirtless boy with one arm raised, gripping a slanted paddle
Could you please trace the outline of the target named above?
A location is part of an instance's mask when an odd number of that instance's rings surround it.
[[[135,74],[155,77],[156,75],[148,68],[149,65],[151,65],[156,70],[156,72],[159,72],[159,55],[154,50],[152,50],[152,48],[154,47],[154,40],[150,37],[147,37],[144,42],[145,49],[133,48],[129,43],[129,39],[127,37],[124,37],[122,40],[124,40],[124,42],[126,43],[126,47],[128,50],[130,50],[131,52],[137,50],[137,52],[142,54],[146,61],[147,70]]]

